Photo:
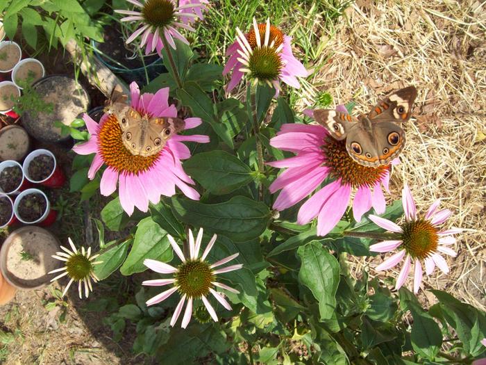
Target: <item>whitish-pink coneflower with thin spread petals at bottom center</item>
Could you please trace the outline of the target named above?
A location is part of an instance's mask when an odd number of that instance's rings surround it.
[[[218,318],[216,315],[216,311],[210,304],[207,297],[209,294],[212,294],[212,296],[215,297],[216,300],[220,302],[224,308],[228,309],[228,311],[231,310],[231,306],[226,301],[224,296],[221,295],[221,293],[215,291],[215,288],[218,287],[220,289],[226,289],[227,291],[231,291],[231,293],[240,292],[231,288],[230,286],[217,282],[216,275],[229,273],[230,271],[242,268],[243,265],[241,263],[226,266],[225,268],[217,268],[218,266],[224,265],[225,263],[228,263],[229,261],[235,259],[238,256],[238,253],[232,254],[231,256],[228,256],[225,259],[221,259],[213,264],[208,263],[208,261],[206,261],[206,257],[208,256],[212,246],[216,242],[217,236],[215,234],[209,241],[206,250],[204,250],[203,252],[203,255],[199,257],[199,250],[201,248],[201,241],[203,239],[202,228],[199,229],[199,233],[197,234],[195,241],[194,236],[192,235],[192,231],[189,229],[189,257],[184,257],[181,248],[179,248],[176,241],[174,241],[174,238],[172,238],[169,234],[167,234],[167,238],[169,238],[169,242],[171,243],[172,248],[182,262],[176,268],[174,268],[174,266],[170,266],[167,263],[156,260],[146,259],[144,261],[144,265],[151,270],[156,271],[156,273],[172,274],[173,277],[171,279],[146,280],[142,282],[143,285],[165,286],[169,284],[174,284],[171,289],[162,291],[162,293],[147,300],[146,305],[155,305],[157,303],[160,303],[163,300],[169,298],[170,295],[178,291],[181,294],[181,300],[179,301],[176,310],[174,311],[174,315],[171,318],[171,326],[174,326],[177,318],[179,318],[179,315],[182,312],[186,300],[187,305],[185,306],[185,312],[181,327],[185,328],[189,324],[192,315],[193,302],[194,300],[199,299],[203,301],[203,304],[208,310],[211,318],[215,322],[217,322]]]

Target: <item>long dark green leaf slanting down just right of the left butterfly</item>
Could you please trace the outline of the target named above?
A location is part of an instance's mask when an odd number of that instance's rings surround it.
[[[233,148],[233,136],[228,131],[226,124],[220,123],[215,119],[212,100],[204,90],[196,83],[187,82],[184,88],[177,90],[177,97],[182,104],[189,106],[196,117],[200,117],[204,122],[209,123],[219,138],[229,147]]]

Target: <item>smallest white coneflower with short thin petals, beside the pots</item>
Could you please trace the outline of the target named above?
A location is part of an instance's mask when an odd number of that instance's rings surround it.
[[[102,263],[103,261],[94,261],[94,259],[99,257],[99,254],[92,255],[90,247],[87,248],[87,250],[85,250],[84,247],[81,247],[81,251],[78,251],[71,238],[67,238],[67,241],[69,241],[72,250],[60,246],[64,252],[56,252],[56,254],[52,255],[54,259],[64,261],[65,265],[62,268],[49,271],[49,274],[60,273],[63,271],[62,274],[51,279],[51,282],[67,275],[67,277],[69,277],[69,282],[62,292],[62,296],[67,293],[67,289],[69,289],[69,286],[71,286],[73,282],[78,282],[79,298],[83,298],[83,285],[85,288],[85,297],[87,298],[90,291],[93,291],[91,279],[93,279],[94,282],[99,281],[97,275],[94,274],[94,265]]]

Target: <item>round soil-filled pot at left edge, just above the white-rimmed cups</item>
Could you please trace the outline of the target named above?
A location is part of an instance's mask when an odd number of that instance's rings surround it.
[[[31,147],[26,130],[18,125],[0,129],[0,160],[21,161]]]

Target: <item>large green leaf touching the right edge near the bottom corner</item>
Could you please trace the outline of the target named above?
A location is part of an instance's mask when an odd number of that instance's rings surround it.
[[[472,356],[479,355],[485,348],[480,343],[486,338],[486,315],[471,305],[460,302],[449,293],[430,290],[439,300],[442,314],[447,323],[457,332],[464,351]]]

